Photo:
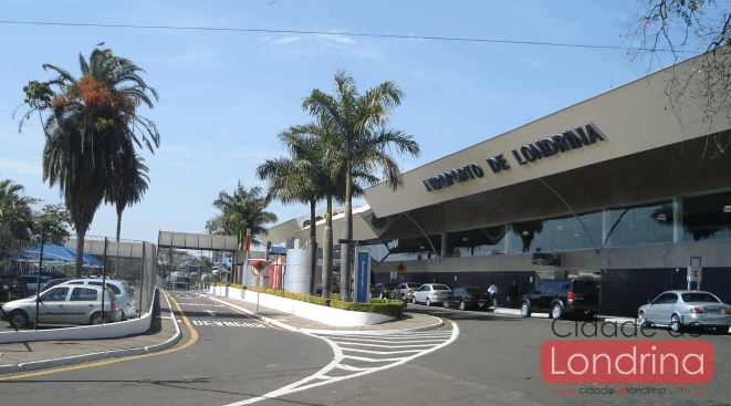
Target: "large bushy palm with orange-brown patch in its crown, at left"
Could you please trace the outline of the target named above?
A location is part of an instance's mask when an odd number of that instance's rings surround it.
[[[112,50],[94,49],[88,62],[79,55],[82,76],[44,64],[58,76],[49,82],[32,81],[25,91],[29,111],[50,112],[41,123],[45,133],[43,180],[59,185],[76,229],[76,277],[81,277],[84,237],[107,189],[114,185],[119,155],[135,146],[152,153],[159,147],[155,123],[137,115],[140,104],[153,108],[155,89],[139,75],[144,70],[117,58]],[[55,87],[58,91],[53,91]],[[137,131],[136,131],[137,129]],[[118,165],[117,165],[118,166]]]

